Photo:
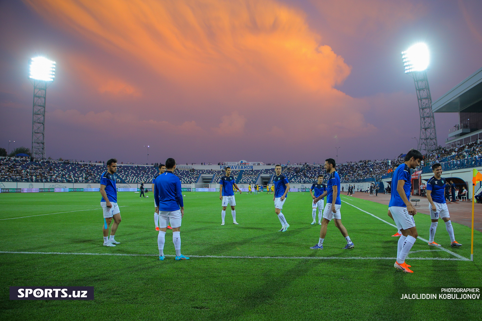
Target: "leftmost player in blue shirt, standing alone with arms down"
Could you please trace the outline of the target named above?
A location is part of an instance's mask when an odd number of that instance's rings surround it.
[[[100,206],[104,212],[104,226],[102,227],[104,246],[116,246],[115,244],[120,244],[120,242],[114,239],[120,223],[120,210],[119,205],[117,205],[116,172],[117,159],[111,158],[107,161],[107,171],[102,173],[100,177],[100,194],[102,195]],[[112,218],[114,218],[114,223],[112,223],[109,237],[109,226]]]

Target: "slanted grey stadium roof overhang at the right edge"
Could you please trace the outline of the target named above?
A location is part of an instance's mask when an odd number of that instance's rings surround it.
[[[434,113],[477,113],[482,111],[482,68],[432,103]]]

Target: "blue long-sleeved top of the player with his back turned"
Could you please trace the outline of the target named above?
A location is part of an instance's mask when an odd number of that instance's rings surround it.
[[[154,202],[160,211],[177,211],[184,206],[181,193],[181,180],[170,170],[166,170],[154,181]]]

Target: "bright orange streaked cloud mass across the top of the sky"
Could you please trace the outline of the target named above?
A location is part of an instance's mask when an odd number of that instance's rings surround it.
[[[53,24],[182,84],[225,87],[241,76],[258,79],[251,87],[277,79],[326,91],[350,72],[320,45],[304,13],[274,0],[26,2]]]

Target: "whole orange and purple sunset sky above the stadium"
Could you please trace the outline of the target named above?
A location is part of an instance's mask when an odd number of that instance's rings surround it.
[[[0,2],[0,147],[31,146],[28,60],[56,64],[46,154],[146,163],[339,162],[416,147],[400,52],[432,100],[482,66],[477,0]],[[439,145],[457,114],[435,114]]]

